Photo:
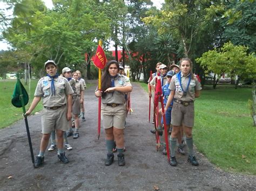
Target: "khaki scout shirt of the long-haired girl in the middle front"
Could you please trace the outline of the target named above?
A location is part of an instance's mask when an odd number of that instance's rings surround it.
[[[124,75],[118,74],[117,77],[114,78],[114,87],[125,87],[132,86],[130,83],[130,79]],[[117,103],[123,104],[125,102],[125,93],[120,91],[113,91],[107,93],[104,97],[102,97],[102,103]]]

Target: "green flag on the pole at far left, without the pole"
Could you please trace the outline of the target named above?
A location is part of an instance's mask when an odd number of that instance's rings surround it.
[[[19,86],[21,86],[22,93],[20,93]],[[23,97],[24,106],[29,103],[29,95],[28,95],[28,93],[26,93],[26,89],[22,85],[21,81],[19,81],[19,79],[17,79],[17,83],[16,83],[14,93],[12,94],[12,99],[11,99],[11,103],[12,103],[12,105],[14,105],[14,107],[16,107],[16,108],[22,107],[21,97]]]

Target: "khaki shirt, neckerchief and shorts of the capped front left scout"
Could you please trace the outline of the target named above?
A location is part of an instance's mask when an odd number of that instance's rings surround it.
[[[43,98],[42,133],[69,129],[69,122],[66,119],[66,97],[72,93],[73,90],[64,77],[51,79],[45,76],[38,81],[35,96]]]

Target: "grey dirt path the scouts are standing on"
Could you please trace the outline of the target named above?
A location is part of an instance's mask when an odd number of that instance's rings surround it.
[[[148,99],[145,91],[133,84],[132,115],[125,128],[126,165],[104,165],[104,131],[97,139],[97,98],[95,87],[86,89],[86,122],[81,122],[80,137],[69,138],[73,150],[65,151],[69,164],[57,160],[56,151],[45,152],[45,164],[32,166],[24,121],[0,130],[0,190],[255,190],[256,177],[231,174],[215,168],[197,153],[199,166],[177,154],[178,166],[171,167],[161,152],[156,152],[152,124],[147,122]],[[8,118],[6,118],[8,120]],[[41,115],[28,118],[34,153],[41,138]],[[11,179],[8,179],[12,176]]]

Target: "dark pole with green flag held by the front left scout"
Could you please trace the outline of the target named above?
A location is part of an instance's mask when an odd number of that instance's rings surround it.
[[[34,164],[35,159],[34,159],[33,147],[32,147],[31,137],[29,132],[28,118],[26,118],[25,116],[26,114],[25,105],[28,104],[28,102],[29,102],[28,93],[26,93],[26,89],[23,87],[21,81],[19,80],[19,75],[17,74],[17,83],[14,89],[14,93],[12,94],[11,103],[12,105],[14,105],[14,107],[16,108],[22,107],[23,109],[23,116],[24,116],[25,125],[26,125],[26,134],[28,135],[31,159],[32,159],[32,163]]]

